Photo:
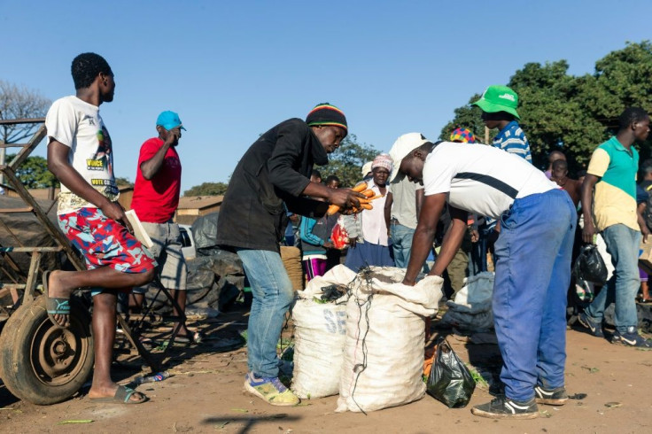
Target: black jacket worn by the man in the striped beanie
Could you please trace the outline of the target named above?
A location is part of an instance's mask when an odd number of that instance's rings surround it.
[[[285,120],[252,144],[231,175],[217,221],[217,244],[279,252],[293,213],[322,215],[328,204],[299,198],[313,165],[329,159],[306,122]]]

